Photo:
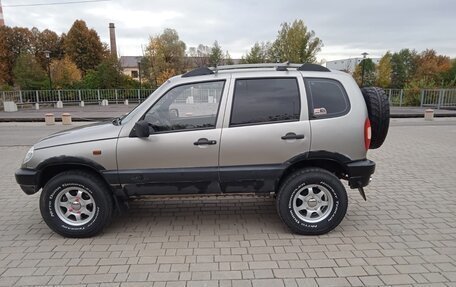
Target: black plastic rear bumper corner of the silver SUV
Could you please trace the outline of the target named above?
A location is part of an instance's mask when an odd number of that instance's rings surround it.
[[[346,164],[348,185],[351,188],[367,186],[375,172],[375,162],[365,159],[352,161]]]

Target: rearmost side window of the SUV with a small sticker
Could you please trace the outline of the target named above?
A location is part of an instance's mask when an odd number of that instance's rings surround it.
[[[314,119],[343,116],[350,110],[347,93],[332,79],[304,79],[310,115]]]

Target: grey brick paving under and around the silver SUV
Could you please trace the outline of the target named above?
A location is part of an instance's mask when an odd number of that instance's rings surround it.
[[[364,202],[297,236],[270,198],[140,200],[101,236],[65,239],[41,220],[0,147],[0,285],[456,286],[456,125],[391,128]]]

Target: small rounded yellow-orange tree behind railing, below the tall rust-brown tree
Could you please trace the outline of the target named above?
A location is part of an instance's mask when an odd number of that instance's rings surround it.
[[[70,88],[81,80],[81,71],[69,57],[51,63],[52,82],[56,88]]]

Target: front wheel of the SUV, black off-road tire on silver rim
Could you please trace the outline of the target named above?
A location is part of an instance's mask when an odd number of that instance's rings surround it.
[[[110,222],[113,199],[106,183],[97,175],[66,171],[44,186],[40,211],[46,224],[56,233],[73,238],[90,237],[100,233]]]

